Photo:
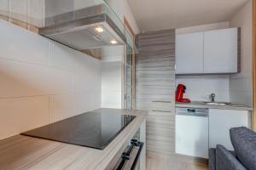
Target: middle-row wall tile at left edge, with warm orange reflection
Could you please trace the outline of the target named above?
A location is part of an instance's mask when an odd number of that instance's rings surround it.
[[[72,77],[67,71],[0,59],[0,98],[67,94]]]

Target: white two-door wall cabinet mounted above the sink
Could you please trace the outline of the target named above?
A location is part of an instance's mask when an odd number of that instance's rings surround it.
[[[239,28],[176,35],[176,74],[239,72]]]

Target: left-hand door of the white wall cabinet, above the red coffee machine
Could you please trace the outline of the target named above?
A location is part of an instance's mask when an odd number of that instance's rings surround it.
[[[203,32],[176,36],[176,74],[203,73]]]

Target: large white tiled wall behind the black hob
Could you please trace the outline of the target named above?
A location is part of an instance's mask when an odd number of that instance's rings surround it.
[[[101,107],[101,61],[0,20],[0,139]]]

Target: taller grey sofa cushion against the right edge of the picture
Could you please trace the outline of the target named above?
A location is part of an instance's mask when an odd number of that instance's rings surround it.
[[[256,133],[247,127],[230,129],[230,139],[236,157],[249,170],[256,169]]]

